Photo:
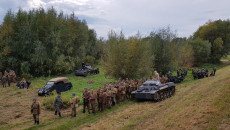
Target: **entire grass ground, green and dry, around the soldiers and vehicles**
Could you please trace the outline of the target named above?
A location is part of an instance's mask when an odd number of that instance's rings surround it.
[[[189,72],[189,76],[191,76]],[[97,88],[104,82],[114,81],[99,75],[70,79],[74,88],[62,93],[63,98],[71,98],[73,92],[82,96],[84,87]],[[38,97],[37,89],[48,79],[32,79],[30,89],[14,86],[0,88],[0,129],[230,129],[230,66],[220,66],[215,77],[186,81],[176,86],[175,96],[162,102],[125,101],[96,115],[82,113],[78,108],[76,118],[70,118],[70,109],[63,110],[63,118],[42,106],[39,126],[33,124],[30,114],[32,98],[37,97],[42,104],[51,97]],[[93,80],[93,84],[87,84]]]

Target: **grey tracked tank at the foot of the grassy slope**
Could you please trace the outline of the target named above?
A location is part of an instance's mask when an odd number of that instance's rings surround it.
[[[171,97],[175,93],[175,84],[168,82],[161,84],[159,80],[147,80],[131,95],[136,100],[161,101]]]

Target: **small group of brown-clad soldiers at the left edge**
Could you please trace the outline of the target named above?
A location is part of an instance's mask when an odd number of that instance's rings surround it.
[[[5,70],[4,74],[0,72],[0,80],[1,80],[3,88],[6,87],[7,83],[8,83],[8,86],[10,86],[10,83],[16,82],[16,74],[13,70],[10,70],[9,72]]]

